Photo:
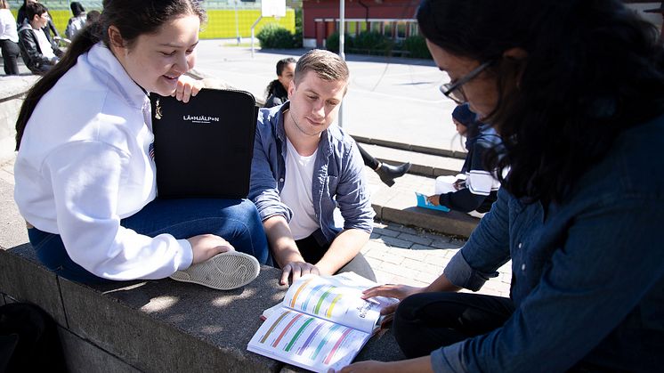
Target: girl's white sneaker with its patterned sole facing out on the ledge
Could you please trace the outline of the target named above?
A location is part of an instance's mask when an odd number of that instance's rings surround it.
[[[192,264],[184,271],[173,273],[173,280],[193,282],[208,288],[231,290],[247,285],[258,277],[261,266],[252,255],[228,251],[203,263]]]

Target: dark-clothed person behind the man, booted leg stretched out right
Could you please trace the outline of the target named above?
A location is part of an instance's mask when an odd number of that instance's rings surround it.
[[[288,101],[288,85],[293,81],[295,69],[296,59],[293,57],[288,57],[277,62],[277,78],[272,80],[265,90],[267,95],[265,108],[272,108]],[[371,156],[360,144],[357,144],[357,146],[360,149],[364,165],[374,170],[380,176],[380,180],[388,186],[393,186],[394,179],[403,176],[410,169],[410,162],[399,166],[388,165]]]

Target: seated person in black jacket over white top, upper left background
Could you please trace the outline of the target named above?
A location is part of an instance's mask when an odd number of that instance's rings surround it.
[[[20,54],[33,74],[44,75],[64,53],[42,29],[49,20],[48,9],[43,4],[30,3],[26,5],[26,15],[28,22],[19,28]]]

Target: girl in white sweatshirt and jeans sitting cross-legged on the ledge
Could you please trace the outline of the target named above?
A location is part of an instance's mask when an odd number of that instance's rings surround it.
[[[59,276],[230,289],[266,262],[248,199],[157,198],[148,94],[187,102],[198,92],[182,75],[194,67],[203,20],[192,0],[104,0],[100,20],[28,92],[14,199],[37,258]]]

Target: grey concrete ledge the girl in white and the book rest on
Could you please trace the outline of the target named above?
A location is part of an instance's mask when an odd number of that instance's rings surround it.
[[[231,291],[170,279],[87,286],[46,270],[28,244],[0,250],[0,293],[53,316],[73,372],[296,369],[247,351],[260,314],[287,289],[279,275],[263,266],[251,284]],[[402,358],[388,329],[358,360]]]

